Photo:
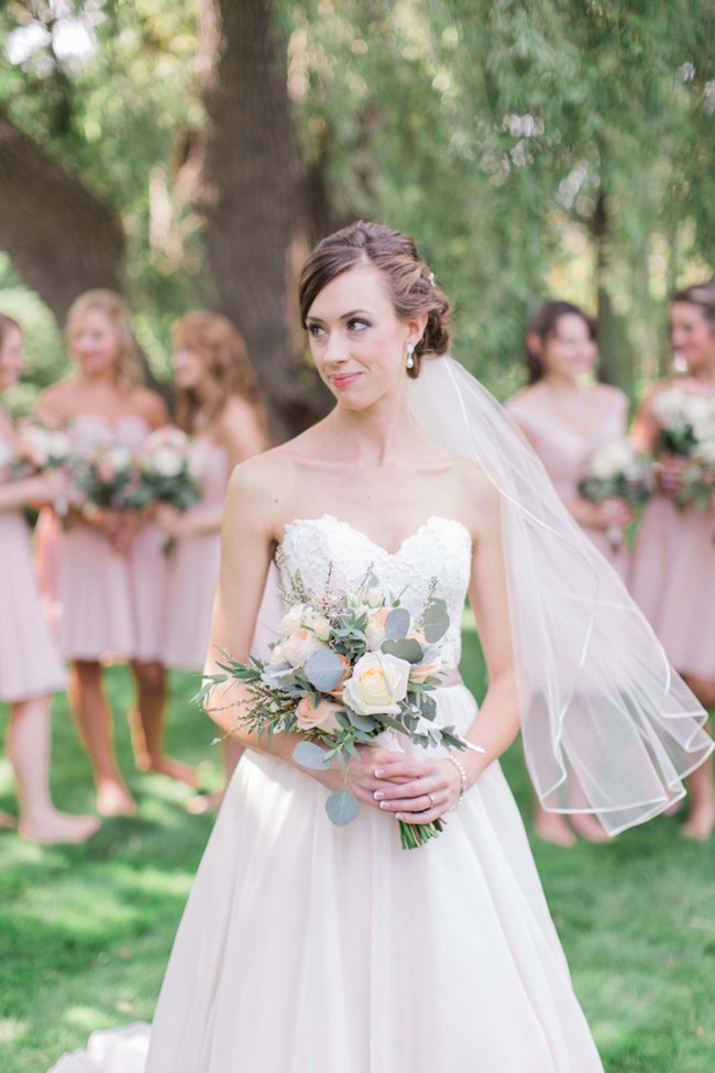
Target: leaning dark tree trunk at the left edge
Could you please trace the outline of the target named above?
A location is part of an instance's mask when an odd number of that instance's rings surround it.
[[[53,161],[0,109],[0,249],[65,322],[82,291],[121,291],[118,213]]]

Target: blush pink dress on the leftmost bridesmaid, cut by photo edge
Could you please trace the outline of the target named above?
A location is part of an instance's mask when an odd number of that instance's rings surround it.
[[[14,451],[0,438],[0,470]],[[42,611],[21,511],[0,511],[0,701],[13,704],[65,688],[65,665]]]

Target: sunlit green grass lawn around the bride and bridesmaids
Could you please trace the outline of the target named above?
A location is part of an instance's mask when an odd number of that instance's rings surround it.
[[[463,670],[481,696],[484,672],[469,632]],[[210,832],[210,818],[189,817],[184,809],[190,791],[134,771],[123,719],[130,679],[116,667],[109,682],[118,751],[139,799],[138,815],[107,821],[86,846],[41,847],[0,832],[1,1073],[44,1073],[96,1028],[151,1020]],[[204,780],[216,786],[212,724],[188,703],[194,690],[190,676],[173,676],[168,746],[199,763]],[[2,729],[6,720],[3,712]],[[504,765],[528,813],[518,746]],[[54,707],[53,787],[58,804],[91,808],[89,768],[64,697]],[[0,809],[14,810],[4,762]],[[688,843],[679,821],[663,819],[608,845],[580,843],[563,851],[535,842],[534,852],[608,1073],[711,1073],[712,846]]]

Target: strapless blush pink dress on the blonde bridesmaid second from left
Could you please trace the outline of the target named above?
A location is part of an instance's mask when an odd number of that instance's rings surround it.
[[[76,448],[121,442],[136,450],[148,431],[133,415],[110,421],[79,414],[68,428]],[[37,570],[67,659],[160,657],[167,565],[155,526],[142,526],[130,550],[119,552],[91,526],[79,522],[64,529],[48,513],[41,524]]]

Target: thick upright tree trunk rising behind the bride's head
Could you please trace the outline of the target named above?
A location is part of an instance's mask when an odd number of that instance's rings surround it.
[[[221,311],[240,329],[284,436],[315,412],[298,385],[295,267],[305,218],[286,42],[271,0],[204,0],[201,42],[208,131],[204,212]]]

